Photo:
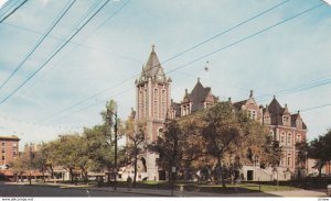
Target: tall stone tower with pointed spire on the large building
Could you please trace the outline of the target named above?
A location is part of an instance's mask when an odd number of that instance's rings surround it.
[[[159,62],[154,46],[142,66],[141,75],[136,80],[137,86],[137,121],[147,122],[146,143],[158,139],[160,130],[164,126],[167,111],[170,108],[170,83]],[[159,180],[159,170],[156,164],[157,154],[146,152],[146,170],[148,180]]]

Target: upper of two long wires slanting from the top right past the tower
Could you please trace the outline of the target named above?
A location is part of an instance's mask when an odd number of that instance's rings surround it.
[[[207,43],[207,42],[210,42],[210,41],[212,41],[212,40],[214,40],[214,38],[216,38],[216,37],[218,37],[218,36],[221,36],[221,35],[223,35],[223,34],[225,34],[225,33],[227,33],[227,32],[229,32],[229,31],[232,31],[232,30],[234,30],[234,29],[236,29],[236,27],[238,27],[238,26],[241,26],[241,25],[243,25],[243,24],[245,24],[245,23],[247,23],[247,22],[249,22],[249,21],[252,21],[252,20],[254,20],[254,19],[256,19],[256,18],[258,18],[258,16],[260,16],[260,15],[263,15],[263,14],[265,14],[265,13],[267,13],[267,12],[269,12],[269,11],[271,11],[271,10],[274,10],[274,9],[276,9],[276,8],[280,7],[280,5],[282,5],[282,4],[285,4],[285,3],[287,3],[287,2],[289,2],[289,0],[284,1],[284,2],[281,2],[281,3],[279,3],[279,4],[276,4],[276,5],[271,7],[271,8],[269,8],[269,9],[267,9],[267,10],[263,11],[261,13],[258,13],[258,14],[256,14],[256,15],[249,18],[248,20],[245,20],[245,21],[243,21],[243,22],[241,22],[241,23],[238,23],[238,24],[236,24],[236,25],[234,25],[234,26],[227,29],[226,31],[223,31],[223,32],[221,32],[221,33],[218,33],[218,34],[216,34],[216,35],[214,35],[214,36],[212,36],[212,37],[210,37],[210,38],[207,38],[207,40],[205,40],[205,41],[203,41],[203,42],[201,42],[201,43],[199,43],[199,44],[196,44],[196,45],[194,45],[194,46],[192,46],[192,47],[190,47],[190,48],[188,48],[188,49],[185,49],[185,51],[183,51],[183,52],[181,52],[181,53],[179,53],[179,54],[177,54],[177,55],[174,55],[174,56],[172,56],[172,57],[170,57],[170,58],[168,58],[167,60],[164,60],[164,62],[161,63],[161,64],[164,64],[164,63],[167,63],[167,62],[169,62],[169,60],[171,60],[171,59],[174,59],[174,58],[177,58],[177,57],[179,57],[179,56],[181,56],[181,55],[183,55],[183,54],[185,54],[185,53],[188,53],[188,52],[190,52],[190,51],[192,51],[192,49],[194,49],[194,48],[196,48],[196,47],[199,47],[199,46],[201,46],[201,45],[203,45],[203,44],[205,44],[205,43]],[[160,64],[160,65],[161,65],[161,64]],[[156,68],[156,67],[159,67],[159,66],[153,66],[153,67],[151,67],[151,69],[152,69],[152,68]],[[100,91],[98,91],[98,92],[92,94],[90,97],[87,97],[86,99],[83,99],[83,100],[81,100],[81,101],[78,101],[78,102],[76,102],[76,103],[74,103],[74,104],[71,104],[71,105],[68,105],[68,107],[62,109],[61,111],[54,113],[53,115],[63,113],[63,112],[65,112],[65,111],[72,109],[72,108],[74,108],[74,107],[76,107],[76,105],[79,105],[79,104],[82,104],[82,103],[84,103],[84,102],[86,102],[86,101],[88,101],[88,100],[90,100],[90,99],[93,99],[93,98],[95,98],[95,97],[98,97],[99,94],[102,94],[102,93],[104,93],[104,92],[106,92],[106,91],[108,91],[108,90],[110,90],[110,89],[113,89],[113,88],[119,87],[119,86],[124,85],[125,82],[135,79],[135,78],[136,78],[137,76],[139,76],[139,75],[140,75],[140,74],[136,74],[135,76],[129,77],[129,78],[122,80],[121,82],[118,82],[118,83],[116,83],[116,85],[114,85],[114,86],[111,86],[111,87],[109,87],[109,88],[103,89],[103,90],[100,90]],[[52,116],[53,116],[53,115],[52,115]]]

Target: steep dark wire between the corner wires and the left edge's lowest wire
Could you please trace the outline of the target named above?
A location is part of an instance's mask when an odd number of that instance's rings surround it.
[[[73,7],[76,0],[72,0],[71,3],[66,4],[63,12],[57,16],[57,19],[52,23],[49,31],[36,42],[36,44],[32,47],[30,53],[24,57],[24,59],[19,64],[19,66],[12,71],[12,74],[1,83],[0,90],[2,87],[17,74],[17,71],[25,64],[25,62],[30,58],[30,56],[36,51],[36,48],[42,44],[42,42],[47,37],[47,35],[54,30],[57,23],[63,19],[63,16],[67,13],[67,11]]]

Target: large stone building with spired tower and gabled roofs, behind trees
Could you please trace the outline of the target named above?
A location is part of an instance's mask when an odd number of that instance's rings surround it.
[[[136,80],[137,93],[137,121],[147,121],[147,143],[158,138],[160,130],[164,126],[166,119],[175,119],[189,115],[199,110],[204,110],[215,103],[218,98],[212,93],[210,87],[203,87],[200,79],[189,93],[185,89],[181,102],[171,99],[171,79],[167,78],[158,56],[152,47],[152,52],[147,64],[142,67],[140,77]],[[231,99],[228,100],[231,101]],[[248,99],[233,102],[236,110],[247,111],[248,115],[265,124],[274,139],[279,141],[282,150],[280,166],[277,168],[277,179],[289,179],[296,170],[296,143],[306,141],[307,126],[300,116],[300,112],[290,113],[287,104],[281,107],[274,97],[271,102],[266,105],[258,105],[250,91]],[[148,180],[159,180],[160,172],[156,165],[158,156],[146,152]],[[275,169],[261,169],[258,164],[254,167],[245,166],[243,174],[246,180],[273,180]],[[163,178],[163,176],[162,176]]]

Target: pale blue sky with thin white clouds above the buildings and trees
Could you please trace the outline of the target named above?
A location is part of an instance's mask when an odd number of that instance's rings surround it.
[[[130,109],[136,108],[135,79],[130,78],[140,72],[152,44],[162,63],[285,1],[110,1],[41,71],[0,104],[0,135],[15,134],[23,145],[50,141],[64,132],[82,131],[84,126],[102,122],[99,112],[109,99],[118,101],[119,115],[126,119]],[[68,2],[29,0],[0,23],[0,83]],[[40,67],[96,2],[85,0],[73,4],[50,36],[0,89],[0,101]],[[236,43],[319,3],[322,1],[287,1],[166,62],[164,71],[184,66],[168,75],[173,80],[172,98],[181,101],[184,89],[191,90],[197,77],[203,85],[212,87],[221,100],[246,99],[253,89],[257,102],[265,105],[276,94],[280,104],[288,104],[290,112],[301,111],[310,139],[322,134],[331,126],[331,107],[327,105],[331,103],[331,7],[324,3]],[[0,19],[2,14],[0,10]],[[206,62],[209,71],[204,70]],[[99,91],[103,92],[76,104]],[[317,108],[319,105],[323,107]]]

